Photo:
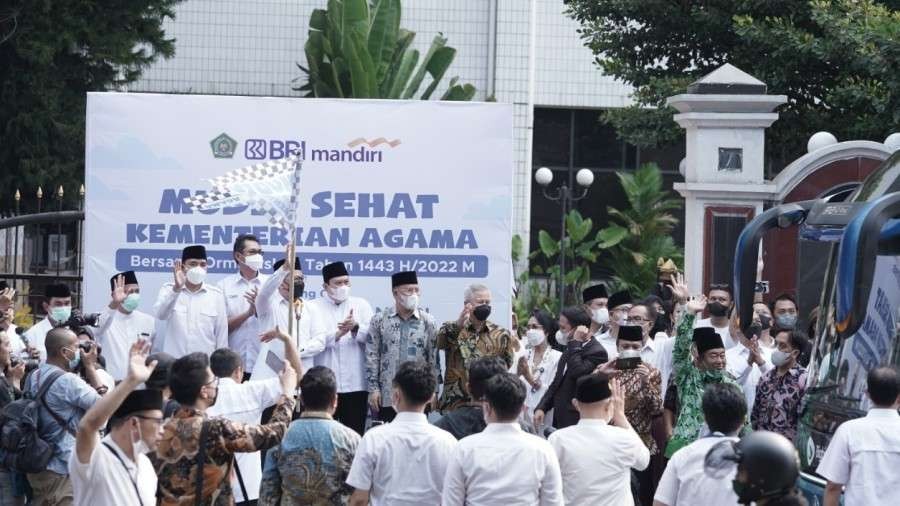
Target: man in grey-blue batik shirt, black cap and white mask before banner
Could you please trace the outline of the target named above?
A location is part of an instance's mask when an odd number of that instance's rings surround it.
[[[423,361],[437,377],[434,366],[434,317],[419,307],[419,280],[415,271],[391,276],[394,307],[372,317],[366,336],[366,381],[369,406],[384,422],[397,412],[391,405],[391,381],[400,364]]]

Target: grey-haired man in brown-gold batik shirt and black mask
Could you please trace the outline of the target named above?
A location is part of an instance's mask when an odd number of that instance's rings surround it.
[[[470,285],[464,302],[459,319],[441,325],[437,335],[437,349],[444,350],[447,360],[444,390],[438,402],[442,413],[470,401],[465,389],[469,364],[481,357],[500,357],[509,368],[515,354],[509,331],[487,321],[491,314],[488,287]]]

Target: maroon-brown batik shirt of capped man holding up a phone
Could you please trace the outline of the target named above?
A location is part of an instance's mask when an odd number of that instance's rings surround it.
[[[650,450],[650,455],[656,455],[659,448],[656,446],[656,440],[650,434],[650,426],[653,423],[653,417],[658,416],[662,411],[660,394],[662,376],[659,369],[649,365],[647,367],[650,369],[650,374],[646,381],[636,369],[619,371],[618,378],[625,393],[625,418]]]

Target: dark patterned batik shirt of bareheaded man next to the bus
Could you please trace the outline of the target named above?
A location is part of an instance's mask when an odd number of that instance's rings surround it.
[[[756,386],[756,402],[750,421],[754,430],[777,432],[793,441],[800,419],[800,400],[806,391],[806,369],[796,364],[784,375],[767,372]]]

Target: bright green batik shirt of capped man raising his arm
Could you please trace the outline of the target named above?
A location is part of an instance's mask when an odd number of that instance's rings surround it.
[[[705,420],[701,401],[707,385],[731,383],[741,391],[740,385],[724,370],[700,370],[691,360],[691,343],[694,334],[695,315],[686,313],[678,324],[672,363],[675,368],[675,386],[678,388],[678,404],[681,407],[672,439],[666,446],[666,457],[700,437]],[[746,421],[745,421],[746,423]]]

